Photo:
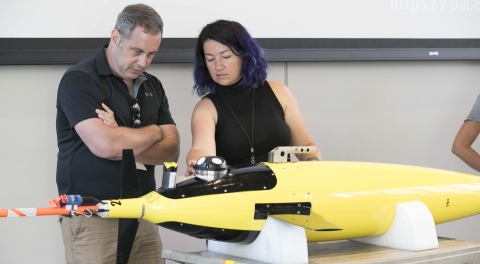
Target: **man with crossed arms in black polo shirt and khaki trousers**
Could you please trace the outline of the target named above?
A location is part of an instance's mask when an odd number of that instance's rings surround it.
[[[123,149],[133,149],[141,190],[155,189],[154,167],[177,161],[179,136],[161,82],[145,72],[163,22],[143,4],[119,14],[108,45],[71,67],[57,98],[60,194],[116,199]],[[61,217],[67,263],[115,263],[118,219]],[[141,221],[130,263],[161,263],[158,227]]]

